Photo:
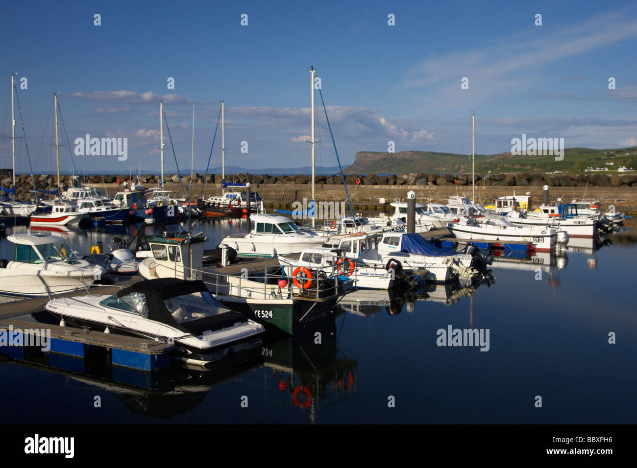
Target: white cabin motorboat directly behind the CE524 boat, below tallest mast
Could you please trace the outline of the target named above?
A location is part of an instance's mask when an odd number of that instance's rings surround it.
[[[252,215],[250,228],[247,234],[226,236],[219,246],[233,248],[239,257],[276,257],[320,247],[325,241],[317,232],[301,231],[285,216]]]

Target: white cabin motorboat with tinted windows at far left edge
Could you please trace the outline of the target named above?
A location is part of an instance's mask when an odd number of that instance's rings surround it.
[[[0,260],[0,294],[41,296],[87,287],[105,270],[80,260],[66,241],[49,234],[13,234],[13,260]]]

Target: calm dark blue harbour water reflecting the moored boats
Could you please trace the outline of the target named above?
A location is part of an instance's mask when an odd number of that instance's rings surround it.
[[[192,230],[206,232],[211,248],[244,229],[225,220]],[[89,252],[122,234],[65,236]],[[21,420],[32,423],[634,423],[633,237],[610,236],[599,250],[569,248],[536,265],[502,260],[479,287],[366,292],[366,302],[341,304],[322,344],[266,337],[261,356],[216,371],[83,375],[0,358],[0,411],[19,404]],[[10,258],[9,244],[0,241],[0,258]],[[436,332],[448,325],[488,329],[489,351],[438,346]]]

